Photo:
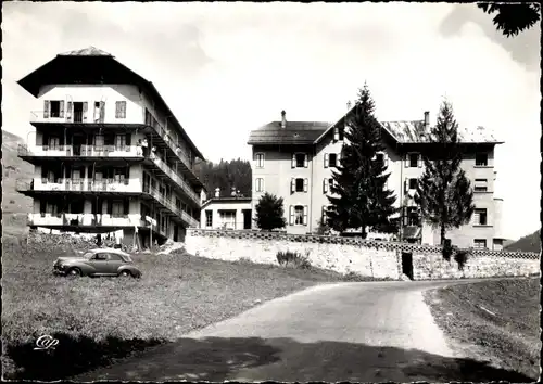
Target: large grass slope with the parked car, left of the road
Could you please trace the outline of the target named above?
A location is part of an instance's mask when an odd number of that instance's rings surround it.
[[[4,379],[60,380],[106,366],[336,272],[300,270],[190,255],[134,255],[141,279],[53,277],[71,251],[5,246],[2,257]],[[40,335],[59,340],[36,351]]]

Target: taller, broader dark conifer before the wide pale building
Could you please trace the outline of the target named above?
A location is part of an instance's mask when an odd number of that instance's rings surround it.
[[[333,185],[328,196],[332,205],[327,213],[327,223],[333,230],[362,228],[362,236],[367,229],[386,232],[396,230],[390,216],[397,209],[393,191],[386,188],[390,172],[382,157],[381,125],[374,115],[375,103],[367,85],[359,90],[355,107],[346,116],[340,166],[332,171]]]

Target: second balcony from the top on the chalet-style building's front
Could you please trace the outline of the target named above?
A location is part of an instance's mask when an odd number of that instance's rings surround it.
[[[143,155],[137,145],[36,145],[20,144],[20,157],[135,157]]]

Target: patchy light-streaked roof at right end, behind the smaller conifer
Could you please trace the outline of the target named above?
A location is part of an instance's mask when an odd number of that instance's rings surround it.
[[[399,143],[425,143],[430,141],[430,130],[424,120],[381,121],[382,127]],[[492,130],[484,127],[476,129],[458,128],[458,141],[463,143],[502,143]]]

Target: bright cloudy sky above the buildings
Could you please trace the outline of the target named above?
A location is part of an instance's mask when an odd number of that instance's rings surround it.
[[[506,38],[475,4],[3,2],[3,127],[26,140],[35,99],[16,81],[97,47],[152,81],[211,161],[250,158],[272,120],[333,121],[367,82],[380,120],[492,129],[505,236],[540,223],[540,26]]]

